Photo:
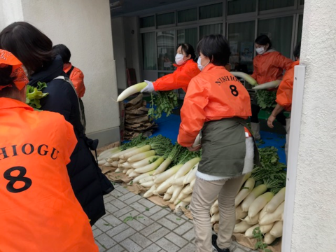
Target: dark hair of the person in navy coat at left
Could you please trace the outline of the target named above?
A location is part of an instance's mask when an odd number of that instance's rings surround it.
[[[12,52],[29,75],[54,58],[50,38],[27,22],[13,22],[3,29],[0,48]]]

